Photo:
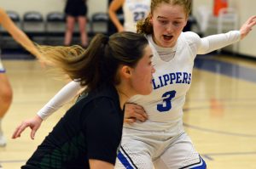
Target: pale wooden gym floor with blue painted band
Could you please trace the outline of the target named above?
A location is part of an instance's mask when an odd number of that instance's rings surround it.
[[[183,122],[195,148],[212,169],[256,169],[256,59],[198,56],[184,106]],[[3,60],[14,90],[13,104],[3,119],[8,138],[0,148],[4,169],[20,168],[71,104],[44,121],[35,140],[27,129],[16,140],[15,127],[30,118],[66,82],[57,80],[36,60]]]

